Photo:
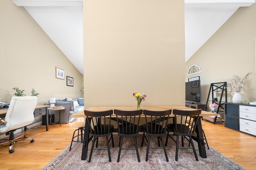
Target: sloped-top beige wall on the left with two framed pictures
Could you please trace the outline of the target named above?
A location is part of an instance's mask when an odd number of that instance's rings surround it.
[[[23,7],[1,0],[0,24],[0,101],[10,101],[14,87],[25,90],[26,96],[34,88],[38,105],[50,97],[83,95],[83,75]],[[65,70],[65,80],[55,78],[55,67]],[[74,78],[74,87],[66,86],[66,76]]]

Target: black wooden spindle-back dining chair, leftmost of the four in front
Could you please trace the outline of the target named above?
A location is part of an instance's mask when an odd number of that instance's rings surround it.
[[[93,137],[92,140],[92,148],[90,152],[90,156],[88,162],[91,162],[92,158],[92,151],[94,149],[107,149],[108,150],[108,160],[111,162],[110,156],[110,147],[109,143],[112,139],[112,146],[114,147],[114,139],[112,130],[114,129],[114,125],[111,124],[111,115],[113,114],[113,110],[107,111],[88,111],[84,110],[84,115],[86,115],[86,123],[88,123],[90,128],[90,136]],[[108,139],[110,136],[110,139]],[[99,137],[106,137],[107,148],[98,148],[98,138]],[[95,141],[96,148],[94,148]]]

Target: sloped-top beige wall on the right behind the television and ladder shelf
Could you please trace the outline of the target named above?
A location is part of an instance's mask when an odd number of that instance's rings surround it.
[[[206,103],[211,83],[228,82],[238,75],[248,72],[250,83],[244,84],[243,98],[256,101],[255,39],[256,4],[239,8],[231,18],[186,62],[185,75],[188,78],[200,76],[202,103]],[[201,73],[187,76],[191,65],[198,64]],[[228,102],[232,102],[232,91],[228,92]]]

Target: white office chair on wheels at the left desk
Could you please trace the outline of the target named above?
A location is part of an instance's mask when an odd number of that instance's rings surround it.
[[[37,96],[20,96],[12,97],[8,111],[5,116],[5,124],[0,125],[0,133],[6,133],[8,139],[1,139],[5,141],[0,143],[4,145],[9,143],[9,153],[13,153],[12,145],[15,141],[23,139],[32,139],[30,143],[34,142],[32,137],[20,135],[14,138],[14,131],[20,129],[34,122],[34,109],[36,108]]]

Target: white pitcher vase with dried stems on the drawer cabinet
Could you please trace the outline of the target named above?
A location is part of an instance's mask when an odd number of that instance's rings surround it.
[[[249,82],[248,76],[252,74],[248,72],[244,78],[240,78],[239,76],[234,75],[233,78],[231,78],[231,86],[233,89],[233,92],[231,95],[233,96],[232,101],[233,103],[242,103],[242,96],[244,95],[242,91],[242,88],[244,87],[244,83]]]

